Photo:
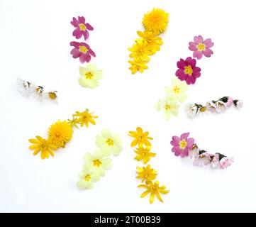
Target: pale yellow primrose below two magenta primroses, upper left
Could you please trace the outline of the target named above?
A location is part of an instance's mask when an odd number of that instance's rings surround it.
[[[94,89],[99,86],[99,79],[102,78],[102,70],[97,70],[95,64],[88,63],[87,67],[79,67],[79,84],[82,87]]]

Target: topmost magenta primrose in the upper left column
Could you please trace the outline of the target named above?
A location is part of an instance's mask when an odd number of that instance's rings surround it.
[[[93,31],[94,28],[91,27],[89,23],[85,23],[85,18],[84,16],[78,16],[77,18],[73,17],[73,21],[70,21],[72,26],[74,26],[76,29],[73,31],[73,35],[75,38],[79,39],[84,35],[84,40],[87,40],[89,38],[89,32],[88,31]]]

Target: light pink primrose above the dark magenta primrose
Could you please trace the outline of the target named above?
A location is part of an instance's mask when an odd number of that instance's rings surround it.
[[[211,38],[204,40],[204,38],[199,35],[194,37],[194,42],[189,42],[189,50],[194,51],[193,57],[197,59],[201,59],[203,55],[211,57],[213,51],[210,48],[212,48],[213,45],[214,43],[211,42]]]

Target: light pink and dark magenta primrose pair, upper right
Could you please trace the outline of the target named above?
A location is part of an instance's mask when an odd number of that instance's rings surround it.
[[[203,55],[205,57],[211,57],[213,51],[210,49],[214,45],[211,42],[211,38],[204,38],[199,35],[194,37],[194,42],[189,42],[189,50],[193,51],[193,57],[196,59],[201,59]],[[201,68],[196,66],[196,59],[192,57],[187,57],[186,60],[180,59],[177,62],[178,70],[175,75],[181,81],[187,82],[187,84],[194,84],[196,79],[201,76]]]

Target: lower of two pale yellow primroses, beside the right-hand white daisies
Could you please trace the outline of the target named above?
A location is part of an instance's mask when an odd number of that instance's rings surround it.
[[[157,111],[162,111],[162,116],[166,120],[171,118],[171,114],[174,116],[178,116],[179,114],[179,104],[174,96],[167,96],[166,99],[159,99],[155,105],[155,109],[157,109]]]

